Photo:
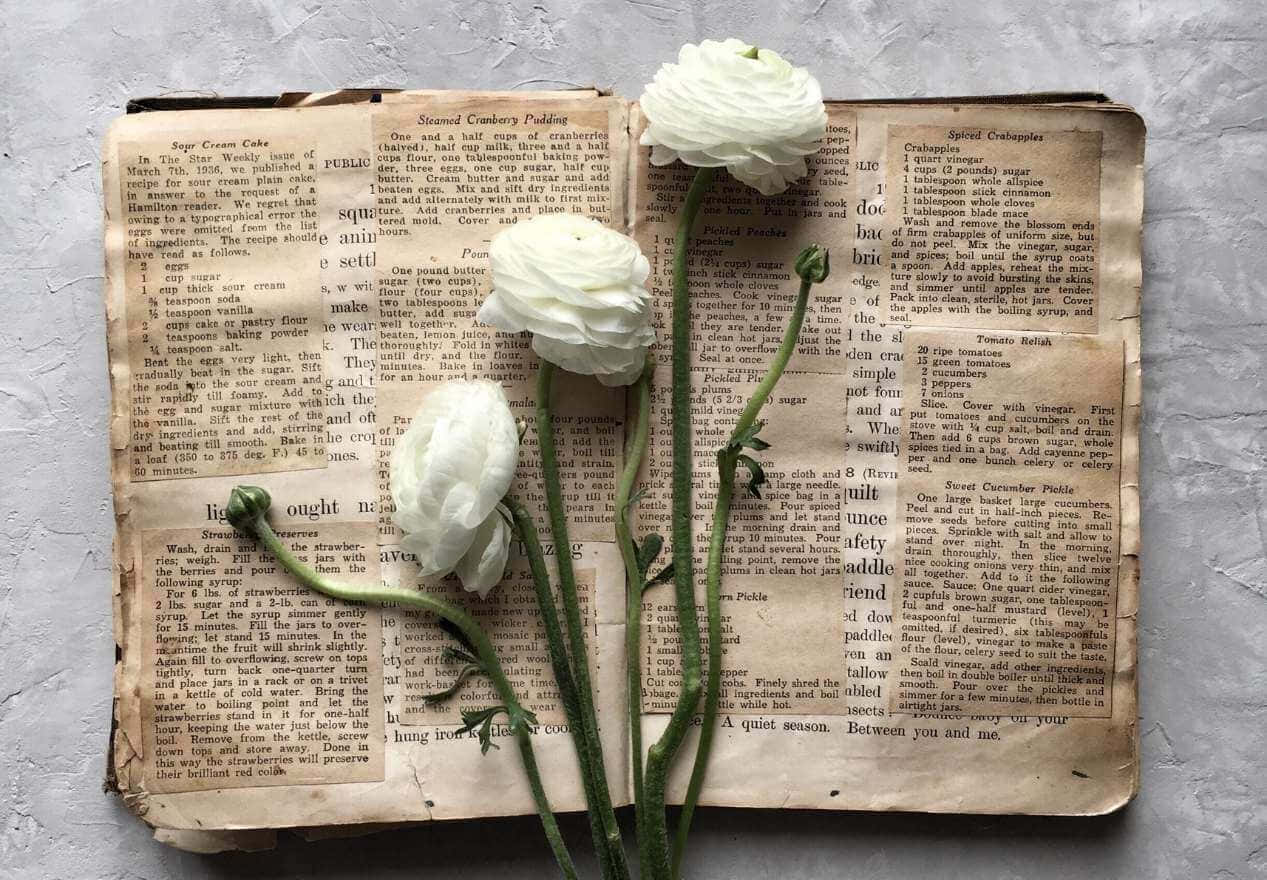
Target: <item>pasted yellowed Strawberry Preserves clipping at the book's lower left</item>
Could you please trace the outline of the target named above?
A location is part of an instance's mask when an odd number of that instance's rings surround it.
[[[332,577],[378,575],[367,525],[280,533]],[[142,538],[151,791],[383,777],[379,609],[314,595],[228,527]]]

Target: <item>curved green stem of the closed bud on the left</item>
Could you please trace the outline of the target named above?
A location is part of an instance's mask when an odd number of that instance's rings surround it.
[[[452,623],[470,641],[471,646],[474,646],[480,661],[484,665],[485,674],[493,682],[493,688],[497,690],[497,695],[506,705],[507,710],[514,712],[514,717],[522,717],[522,705],[514,695],[514,688],[511,685],[509,679],[506,677],[506,672],[502,670],[502,663],[497,658],[493,643],[488,641],[488,636],[484,634],[480,625],[466,612],[456,605],[451,605],[443,599],[427,593],[421,593],[418,590],[386,585],[360,586],[328,581],[304,562],[299,561],[295,555],[290,552],[290,548],[281,543],[276,533],[272,531],[272,527],[269,525],[269,522],[264,517],[260,517],[255,522],[253,533],[256,538],[260,539],[260,543],[272,551],[272,555],[277,557],[277,562],[281,567],[294,575],[300,584],[304,584],[317,593],[331,596],[332,599],[342,599],[343,601],[365,601],[372,604],[395,603],[409,608],[421,608]],[[532,799],[536,801],[537,813],[541,815],[541,826],[545,828],[546,839],[550,842],[550,848],[554,851],[555,860],[557,860],[559,867],[563,870],[563,875],[569,880],[575,880],[576,867],[573,865],[571,856],[568,852],[568,845],[564,842],[563,833],[559,831],[559,822],[555,819],[554,810],[550,809],[550,800],[546,796],[545,786],[541,784],[541,771],[537,769],[536,756],[532,752],[532,739],[528,736],[528,731],[522,724],[512,727],[516,728],[514,734],[519,746],[519,758],[523,762],[523,771],[528,776],[528,786],[532,789]]]

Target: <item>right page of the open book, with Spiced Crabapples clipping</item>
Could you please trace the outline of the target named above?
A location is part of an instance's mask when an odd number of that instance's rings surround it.
[[[829,104],[786,194],[718,176],[691,255],[702,628],[715,452],[794,255],[825,244],[832,268],[761,413],[769,482],[731,514],[703,803],[1093,814],[1134,794],[1142,156],[1112,105]],[[692,173],[635,154],[661,320]],[[658,379],[639,518],[668,534]],[[649,739],[672,609],[647,591]]]

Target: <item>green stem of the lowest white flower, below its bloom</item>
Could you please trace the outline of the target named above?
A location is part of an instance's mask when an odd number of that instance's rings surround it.
[[[594,767],[589,760],[585,726],[582,720],[580,701],[576,699],[576,684],[573,681],[571,667],[568,665],[568,646],[564,642],[563,628],[559,625],[559,612],[555,608],[554,591],[550,589],[550,572],[546,569],[545,553],[541,552],[541,539],[537,536],[536,523],[532,522],[532,514],[517,498],[507,495],[502,503],[514,519],[514,528],[523,543],[523,552],[528,557],[528,569],[532,571],[532,582],[537,593],[537,608],[546,631],[550,665],[554,669],[555,682],[559,685],[559,699],[563,703],[564,715],[568,718],[568,727],[576,748],[576,762],[580,765],[580,779],[585,791],[585,804],[589,808],[589,832],[594,841],[594,852],[598,856],[602,875],[611,877],[613,876],[612,856],[607,832],[599,815]]]

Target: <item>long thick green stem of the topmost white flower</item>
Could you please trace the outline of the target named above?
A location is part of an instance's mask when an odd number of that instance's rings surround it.
[[[682,689],[664,733],[646,757],[647,875],[669,876],[669,828],[665,789],[669,767],[699,701],[699,618],[696,617],[694,546],[692,539],[691,479],[691,298],[687,286],[687,257],[691,228],[712,184],[715,170],[696,171],[687,191],[673,251],[673,584],[682,638]]]

